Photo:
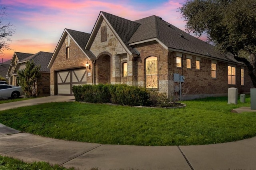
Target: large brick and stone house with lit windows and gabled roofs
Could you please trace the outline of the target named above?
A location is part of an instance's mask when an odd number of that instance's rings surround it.
[[[252,87],[243,63],[158,16],[130,21],[100,12],[91,34],[64,29],[48,68],[51,95],[72,95],[79,84],[127,83],[172,96],[177,75],[186,77],[182,99]]]

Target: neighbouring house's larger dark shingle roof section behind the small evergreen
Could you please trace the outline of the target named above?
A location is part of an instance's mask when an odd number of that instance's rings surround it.
[[[40,71],[42,72],[50,72],[50,68],[47,67],[53,53],[40,51],[34,55],[30,55],[29,57],[23,59],[20,62],[24,61],[34,61],[35,65],[41,65]]]

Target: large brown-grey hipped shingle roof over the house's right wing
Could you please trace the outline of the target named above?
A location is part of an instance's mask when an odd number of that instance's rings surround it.
[[[232,55],[224,56],[216,51],[215,46],[206,43],[190,34],[167,23],[157,16],[150,16],[136,20],[140,27],[133,34],[129,43],[140,42],[152,38],[158,38],[169,48],[188,51],[206,55],[213,58],[224,59],[226,61],[238,62]]]

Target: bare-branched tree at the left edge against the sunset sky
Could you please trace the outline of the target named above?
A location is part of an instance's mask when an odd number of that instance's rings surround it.
[[[10,22],[4,22],[6,15],[6,7],[0,6],[0,54],[3,54],[4,49],[11,49],[7,42],[10,41],[10,36],[14,34],[13,25]]]

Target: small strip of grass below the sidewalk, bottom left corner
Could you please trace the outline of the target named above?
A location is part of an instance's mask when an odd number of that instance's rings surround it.
[[[63,168],[58,165],[50,166],[46,162],[26,163],[18,159],[0,156],[0,170],[74,170],[74,168]]]

